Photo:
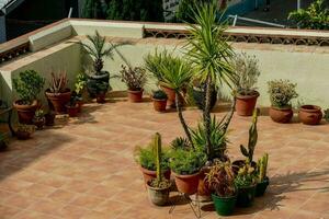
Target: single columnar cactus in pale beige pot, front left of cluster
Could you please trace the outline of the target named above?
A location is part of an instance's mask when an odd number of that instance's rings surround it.
[[[161,136],[158,132],[154,139],[154,153],[156,155],[157,177],[147,182],[148,197],[152,204],[164,206],[169,200],[171,182],[162,175]]]

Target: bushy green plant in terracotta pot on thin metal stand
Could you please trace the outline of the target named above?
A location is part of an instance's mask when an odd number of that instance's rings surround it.
[[[195,149],[174,149],[170,153],[169,166],[180,193],[193,195],[197,192],[198,176],[206,157]]]

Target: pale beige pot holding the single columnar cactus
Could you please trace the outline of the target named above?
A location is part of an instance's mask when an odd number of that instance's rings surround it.
[[[149,185],[150,182],[148,182],[147,185],[147,193],[150,201],[156,206],[164,206],[168,204],[169,200],[169,193],[171,184],[168,185],[168,187],[164,188],[157,188]]]

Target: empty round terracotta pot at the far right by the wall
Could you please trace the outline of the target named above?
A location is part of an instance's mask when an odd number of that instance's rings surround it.
[[[305,125],[319,125],[322,119],[322,111],[320,106],[303,105],[300,106],[298,116]]]

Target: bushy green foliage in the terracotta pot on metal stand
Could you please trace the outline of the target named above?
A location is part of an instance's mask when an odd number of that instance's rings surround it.
[[[170,152],[170,169],[180,175],[197,173],[206,162],[206,155],[200,150],[175,149]]]

